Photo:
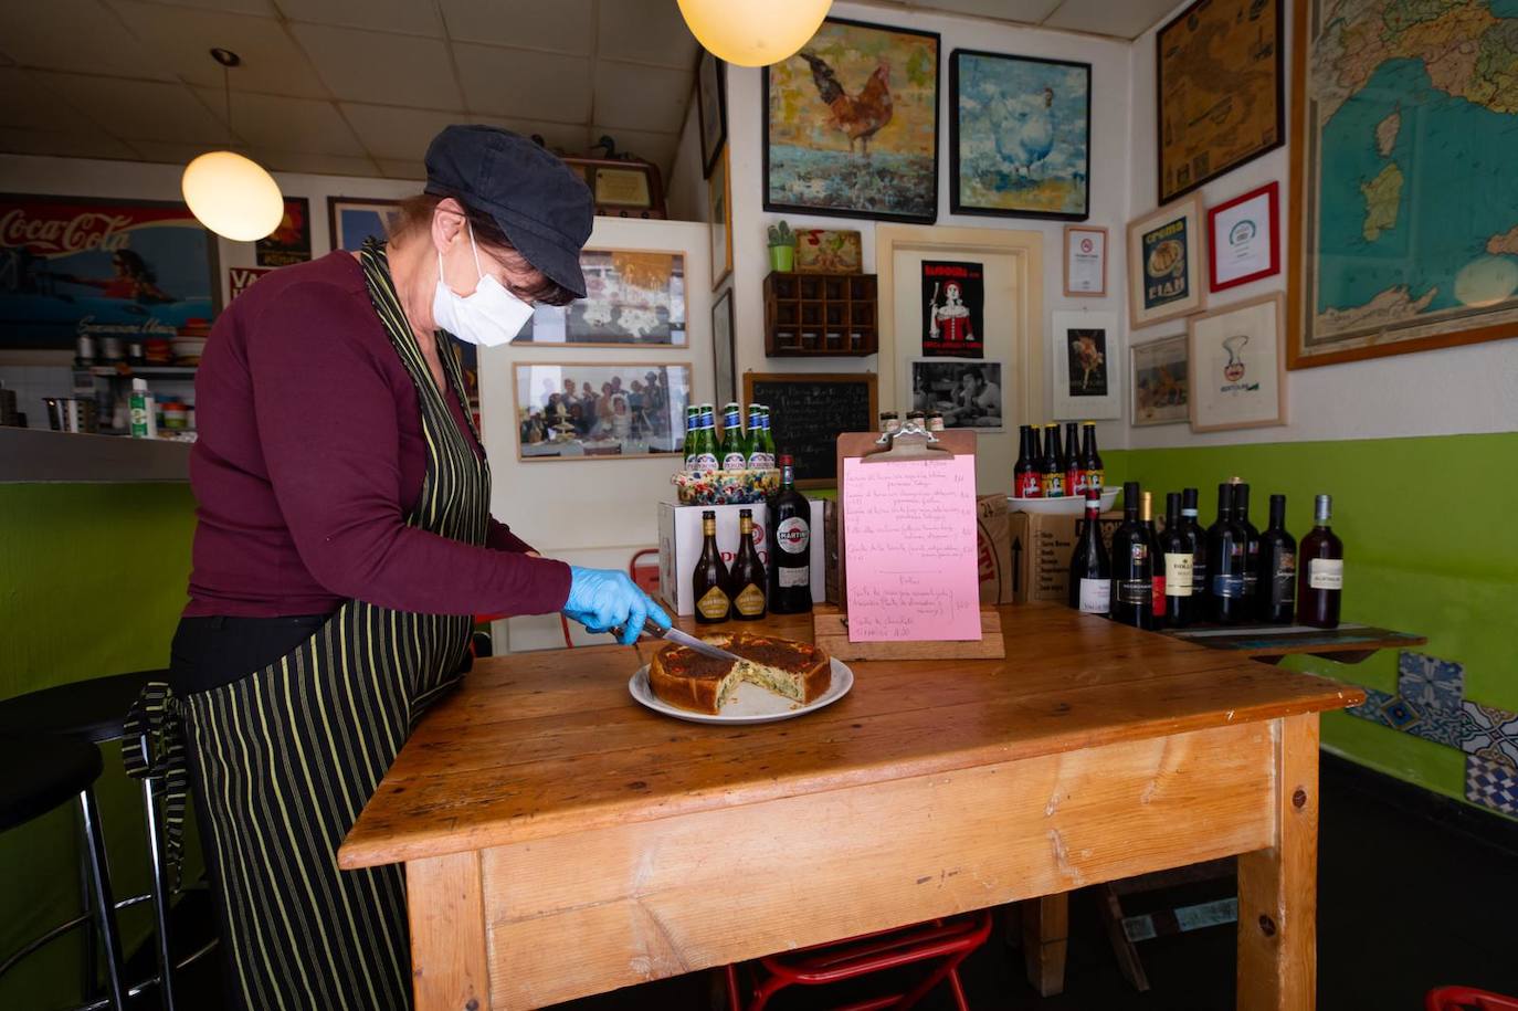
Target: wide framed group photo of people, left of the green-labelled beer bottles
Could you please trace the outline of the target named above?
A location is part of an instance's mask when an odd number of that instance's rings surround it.
[[[679,454],[689,363],[531,361],[512,366],[519,460]]]

